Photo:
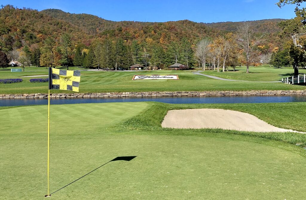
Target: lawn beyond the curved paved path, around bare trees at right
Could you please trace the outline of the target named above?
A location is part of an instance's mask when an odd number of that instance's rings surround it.
[[[246,74],[246,66],[237,66],[236,70],[233,71],[229,68],[230,71],[218,72],[213,70],[205,70],[202,74],[207,74],[211,76],[241,80],[241,81],[281,81],[282,78],[293,76],[292,67],[284,68],[274,68],[270,66],[258,66],[250,67],[249,74]],[[299,70],[300,74],[306,74],[305,69]]]

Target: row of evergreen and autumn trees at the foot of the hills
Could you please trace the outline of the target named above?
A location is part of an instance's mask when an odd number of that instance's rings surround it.
[[[257,37],[249,23],[244,23],[237,34],[232,32],[215,38],[191,41],[183,37],[161,45],[146,38],[144,42],[132,40],[127,43],[119,38],[97,38],[90,45],[74,44],[71,35],[62,34],[58,40],[47,37],[42,47],[33,44],[17,50],[7,51],[9,59],[18,60],[22,66],[79,66],[84,68],[103,68],[122,70],[133,64],[146,69],[167,69],[174,63],[181,63],[184,69],[194,67],[220,71],[235,69],[237,65],[256,65],[259,55],[267,54],[269,49],[259,46],[262,36]]]

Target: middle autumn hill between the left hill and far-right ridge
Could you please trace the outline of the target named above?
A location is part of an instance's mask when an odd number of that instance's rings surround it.
[[[56,19],[79,26],[88,34],[98,36],[120,37],[124,40],[145,40],[147,37],[155,41],[162,38],[161,43],[180,40],[186,36],[191,40],[198,40],[206,36],[215,36],[219,31],[207,27],[203,23],[189,20],[168,22],[137,22],[137,21],[109,21],[90,14],[71,14],[58,9],[40,11]],[[159,41],[160,42],[160,41]]]

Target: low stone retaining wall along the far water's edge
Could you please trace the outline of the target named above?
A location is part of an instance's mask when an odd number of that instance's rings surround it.
[[[148,96],[273,96],[306,95],[306,90],[262,90],[262,91],[204,91],[204,92],[107,92],[107,93],[58,93],[51,98],[105,98]],[[0,94],[0,99],[48,98],[48,94]]]

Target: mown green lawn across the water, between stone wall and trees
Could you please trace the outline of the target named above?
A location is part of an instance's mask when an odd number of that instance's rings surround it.
[[[64,69],[64,68],[63,68]],[[73,68],[71,68],[73,69]],[[75,68],[77,69],[77,68]],[[251,68],[251,71],[257,68]],[[258,69],[266,69],[260,67]],[[32,70],[32,67],[27,69]],[[34,71],[36,70],[36,71]],[[270,70],[278,70],[271,68]],[[282,69],[279,69],[282,70]],[[293,70],[286,69],[289,72]],[[35,68],[34,72],[10,72],[9,70],[0,70],[0,78],[18,78],[20,76],[47,75],[47,69]],[[218,75],[222,73],[205,72]],[[225,72],[224,74],[237,73],[241,77],[250,76],[241,72]],[[274,72],[273,72],[274,73]],[[270,73],[270,81],[279,80],[278,74]],[[132,77],[135,74],[177,74],[180,80],[135,80]],[[257,77],[260,77],[259,73]],[[252,75],[252,73],[251,73]],[[47,93],[48,83],[30,83],[29,80],[36,77],[23,77],[22,82],[12,84],[1,84],[0,94],[21,94],[21,93]],[[46,78],[46,77],[45,77]],[[246,78],[248,79],[248,78]],[[253,79],[252,79],[253,80]],[[261,79],[260,79],[261,80]],[[305,89],[301,85],[285,85],[282,83],[264,83],[264,82],[240,82],[240,81],[221,81],[205,76],[192,74],[191,71],[82,71],[80,82],[80,93],[87,92],[149,92],[149,91],[248,91],[248,90],[299,90]],[[53,91],[51,91],[53,92]],[[65,91],[69,92],[69,91]],[[54,91],[53,93],[58,93]]]

